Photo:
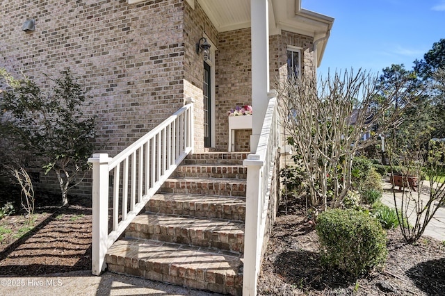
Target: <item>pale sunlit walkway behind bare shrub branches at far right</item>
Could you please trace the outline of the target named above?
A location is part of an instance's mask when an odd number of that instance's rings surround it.
[[[423,186],[429,186],[429,182],[423,181]],[[391,208],[394,208],[394,195],[391,188],[392,185],[391,183],[389,183],[389,180],[385,181],[385,183],[383,184],[382,203],[386,204],[387,206],[391,206]],[[396,186],[395,192],[397,205],[398,208],[400,208],[402,191],[398,190],[398,186]],[[414,197],[417,197],[417,192],[412,193]],[[421,193],[420,197],[424,201],[423,204],[426,204],[426,201],[428,201],[428,195]],[[414,224],[414,219],[414,215],[408,218],[411,224]],[[435,238],[441,241],[445,240],[445,207],[441,207],[437,210],[436,214],[434,215],[434,217],[432,217],[432,220],[423,232],[423,236],[430,236],[431,238]]]

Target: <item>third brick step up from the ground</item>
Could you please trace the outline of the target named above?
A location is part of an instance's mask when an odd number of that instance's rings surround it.
[[[149,200],[145,211],[244,221],[245,197],[161,193]]]

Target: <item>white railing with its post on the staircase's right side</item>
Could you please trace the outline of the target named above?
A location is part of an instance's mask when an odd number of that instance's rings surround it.
[[[243,165],[248,167],[244,231],[243,295],[257,295],[261,252],[266,232],[266,218],[275,155],[279,145],[277,98],[269,100],[263,127],[254,154]]]

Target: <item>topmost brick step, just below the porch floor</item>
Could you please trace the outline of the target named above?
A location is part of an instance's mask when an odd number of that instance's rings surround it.
[[[184,165],[243,165],[248,158],[248,152],[209,152],[203,154],[189,154],[182,162]]]

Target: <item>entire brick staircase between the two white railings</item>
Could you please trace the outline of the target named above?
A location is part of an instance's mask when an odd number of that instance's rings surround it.
[[[242,295],[247,153],[193,154],[106,254],[108,270]]]

